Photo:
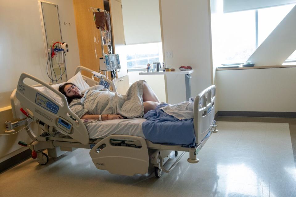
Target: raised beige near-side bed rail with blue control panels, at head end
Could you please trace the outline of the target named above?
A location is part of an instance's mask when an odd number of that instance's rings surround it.
[[[25,78],[38,82],[59,95],[63,104],[26,84],[24,82]],[[30,74],[22,73],[15,95],[22,106],[34,114],[34,118],[40,119],[48,126],[56,128],[61,133],[69,135],[82,144],[88,144],[89,136],[86,127],[81,119],[70,110],[66,97],[58,90]]]

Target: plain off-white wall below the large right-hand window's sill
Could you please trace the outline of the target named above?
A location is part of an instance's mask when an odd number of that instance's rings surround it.
[[[296,68],[216,71],[219,111],[296,111]]]

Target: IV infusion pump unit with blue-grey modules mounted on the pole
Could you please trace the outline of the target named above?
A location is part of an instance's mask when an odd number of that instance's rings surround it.
[[[100,58],[100,69],[111,71],[120,69],[120,61],[118,54],[105,54]]]

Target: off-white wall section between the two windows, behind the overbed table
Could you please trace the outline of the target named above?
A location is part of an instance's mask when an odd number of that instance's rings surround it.
[[[212,49],[209,1],[160,0],[163,53],[166,65],[191,66],[191,94],[212,84]],[[172,58],[166,53],[172,52]]]

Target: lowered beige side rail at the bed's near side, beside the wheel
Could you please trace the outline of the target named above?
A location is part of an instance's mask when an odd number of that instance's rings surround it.
[[[135,140],[140,146],[115,146],[110,141],[116,139]],[[109,135],[92,147],[89,155],[98,169],[108,170],[113,174],[132,176],[148,172],[148,148],[146,140],[142,137]]]

